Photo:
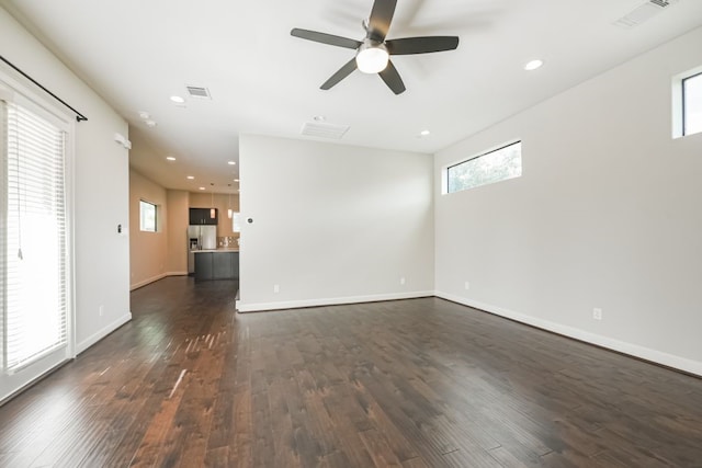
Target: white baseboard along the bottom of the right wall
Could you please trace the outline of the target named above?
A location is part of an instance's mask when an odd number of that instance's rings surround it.
[[[576,340],[584,341],[586,343],[607,347],[608,350],[624,353],[630,356],[639,357],[642,359],[646,359],[652,363],[672,367],[672,368],[702,377],[702,362],[699,362],[699,361],[692,361],[686,357],[676,356],[675,354],[668,354],[661,351],[652,350],[650,347],[641,346],[638,344],[614,340],[608,336],[602,336],[597,333],[591,333],[585,330],[579,330],[577,328],[564,326],[564,324],[552,322],[548,320],[539,319],[536,317],[526,316],[521,312],[516,312],[513,310],[505,309],[497,306],[491,306],[489,304],[479,303],[473,299],[466,299],[465,297],[454,296],[448,293],[437,292],[435,296],[442,299],[451,300],[452,303],[462,304],[464,306],[468,306],[475,309],[484,310],[486,312],[495,313],[496,316],[505,317],[510,320],[514,320],[521,323],[526,323],[529,326],[536,327],[542,330],[547,330],[554,333],[562,334],[564,336],[573,338]]]

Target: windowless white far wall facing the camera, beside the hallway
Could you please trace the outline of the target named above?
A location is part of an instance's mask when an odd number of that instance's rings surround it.
[[[239,158],[240,311],[433,294],[430,156],[242,136]]]

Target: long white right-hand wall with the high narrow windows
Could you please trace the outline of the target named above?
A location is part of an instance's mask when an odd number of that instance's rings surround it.
[[[699,28],[439,152],[437,184],[523,140],[521,179],[437,196],[438,294],[702,374],[702,135],[671,139],[670,91],[701,44]]]

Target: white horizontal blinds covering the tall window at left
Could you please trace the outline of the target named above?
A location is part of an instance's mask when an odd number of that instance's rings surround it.
[[[67,344],[66,134],[30,109],[0,106],[2,357],[12,373]]]

